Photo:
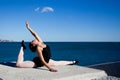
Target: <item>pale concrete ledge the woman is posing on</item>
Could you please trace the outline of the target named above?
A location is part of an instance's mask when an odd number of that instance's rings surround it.
[[[58,72],[50,72],[46,67],[15,68],[0,65],[0,78],[3,80],[92,80],[107,74],[103,70],[97,70],[81,66],[53,66]]]

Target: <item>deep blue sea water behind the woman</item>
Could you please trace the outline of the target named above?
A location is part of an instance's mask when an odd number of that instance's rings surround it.
[[[32,53],[25,42],[25,60],[32,60]],[[54,60],[79,60],[81,66],[120,61],[120,42],[46,42],[51,47]],[[0,62],[16,61],[20,42],[0,42]]]

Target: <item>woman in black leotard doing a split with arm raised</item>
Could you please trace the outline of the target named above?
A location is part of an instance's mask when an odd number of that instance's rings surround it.
[[[46,45],[42,39],[38,36],[38,34],[32,30],[29,25],[29,22],[26,22],[27,29],[31,32],[31,34],[35,37],[35,40],[29,43],[29,48],[32,52],[36,52],[38,57],[35,57],[33,61],[24,61],[24,49],[26,48],[24,45],[24,41],[21,43],[21,49],[18,55],[18,60],[16,66],[19,68],[35,68],[46,66],[49,71],[57,72],[56,69],[52,68],[53,65],[72,65],[78,63],[78,61],[54,61],[50,59],[50,47]]]

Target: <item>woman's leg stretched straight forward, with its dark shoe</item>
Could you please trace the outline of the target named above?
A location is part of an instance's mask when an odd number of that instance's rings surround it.
[[[55,66],[58,66],[58,65],[72,65],[72,64],[76,64],[76,61],[55,61],[55,60],[52,60],[50,59],[49,65],[55,65]]]

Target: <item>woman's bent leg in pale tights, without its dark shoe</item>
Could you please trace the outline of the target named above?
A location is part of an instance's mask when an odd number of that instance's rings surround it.
[[[24,61],[24,50],[23,50],[22,46],[20,48],[20,52],[19,52],[19,55],[18,55],[16,66],[19,67],[19,68],[33,68],[33,67],[35,67],[34,62]]]

